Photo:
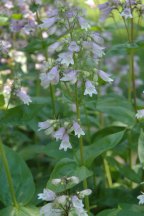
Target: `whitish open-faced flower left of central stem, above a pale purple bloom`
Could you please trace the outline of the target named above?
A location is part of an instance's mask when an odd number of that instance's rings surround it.
[[[73,53],[72,52],[64,52],[64,53],[60,53],[59,55],[59,61],[61,62],[61,64],[66,65],[67,67],[70,64],[74,64],[74,60],[73,60]]]

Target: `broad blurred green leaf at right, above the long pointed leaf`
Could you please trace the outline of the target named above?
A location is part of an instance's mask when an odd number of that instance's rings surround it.
[[[101,96],[97,100],[96,109],[129,126],[135,124],[135,113],[132,105],[122,96]]]

